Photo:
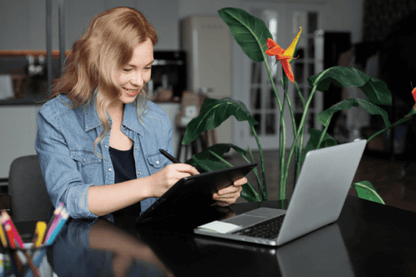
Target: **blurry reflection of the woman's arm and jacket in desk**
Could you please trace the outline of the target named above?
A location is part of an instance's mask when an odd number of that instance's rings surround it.
[[[58,276],[173,276],[153,251],[111,222],[71,220],[53,245]]]

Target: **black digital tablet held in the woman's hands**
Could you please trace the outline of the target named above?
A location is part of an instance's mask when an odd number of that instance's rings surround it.
[[[153,222],[190,210],[197,211],[200,207],[210,206],[215,202],[212,199],[214,193],[231,186],[234,181],[243,178],[256,166],[257,163],[247,163],[243,166],[184,177],[169,188],[144,213],[141,213],[135,222],[136,224]]]

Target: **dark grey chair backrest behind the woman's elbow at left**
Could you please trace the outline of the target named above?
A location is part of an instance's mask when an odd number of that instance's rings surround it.
[[[8,193],[13,221],[49,220],[52,203],[46,192],[37,155],[19,157],[12,162]]]

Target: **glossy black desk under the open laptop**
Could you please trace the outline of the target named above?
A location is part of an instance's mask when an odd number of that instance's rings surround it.
[[[232,212],[259,206],[278,204],[234,204]],[[209,212],[195,224],[227,215]],[[335,224],[275,248],[193,235],[195,224],[120,229],[71,220],[46,257],[58,276],[416,276],[415,221],[415,213],[349,196]]]

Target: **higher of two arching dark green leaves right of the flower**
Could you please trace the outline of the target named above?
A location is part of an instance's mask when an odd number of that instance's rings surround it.
[[[376,105],[392,105],[392,95],[385,82],[352,67],[333,66],[309,77],[308,82],[311,87],[317,85],[318,91],[326,91],[331,83],[340,87],[356,86],[363,90],[370,102]]]

